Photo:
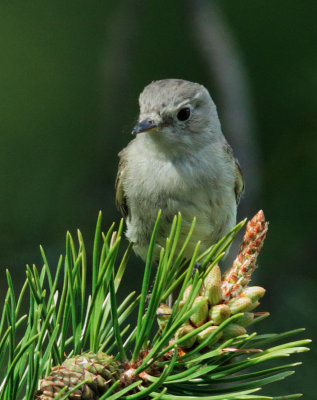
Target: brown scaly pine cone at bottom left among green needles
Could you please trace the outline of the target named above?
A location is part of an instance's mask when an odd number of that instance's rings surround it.
[[[119,379],[119,364],[105,353],[84,353],[69,358],[52,368],[51,374],[40,382],[35,398],[52,400],[66,386],[67,391],[88,380],[72,392],[69,400],[94,400],[104,394]],[[67,392],[65,392],[66,394]]]

